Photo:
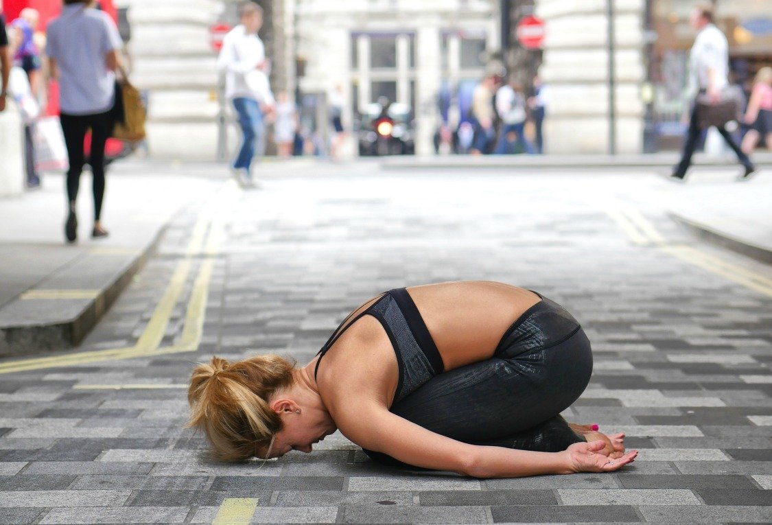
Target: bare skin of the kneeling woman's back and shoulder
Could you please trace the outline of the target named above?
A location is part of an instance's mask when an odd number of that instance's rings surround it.
[[[470,281],[413,286],[407,289],[442,359],[442,371],[489,359],[508,327],[540,301],[528,290],[503,283]],[[350,316],[313,367],[320,365],[320,388],[346,397],[348,391],[370,391],[387,405],[398,390],[404,356],[399,336],[388,334],[370,310],[381,296],[368,301]],[[391,330],[394,331],[393,329]],[[392,339],[394,337],[394,340]],[[329,352],[327,352],[329,351]],[[321,359],[323,357],[323,359]]]

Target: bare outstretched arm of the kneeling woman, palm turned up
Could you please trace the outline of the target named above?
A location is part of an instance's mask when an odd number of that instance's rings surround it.
[[[576,443],[563,452],[469,445],[428,431],[375,402],[349,404],[344,413],[334,417],[340,432],[364,449],[383,452],[410,465],[476,478],[611,472],[638,455],[633,451],[611,460],[600,453],[603,442]]]

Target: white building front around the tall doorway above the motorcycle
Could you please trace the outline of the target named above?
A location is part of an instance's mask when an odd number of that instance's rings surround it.
[[[434,152],[440,93],[476,83],[500,46],[498,2],[488,0],[298,0],[293,9],[287,45],[303,65],[300,92],[339,85],[349,130],[379,97],[408,105],[416,154]]]

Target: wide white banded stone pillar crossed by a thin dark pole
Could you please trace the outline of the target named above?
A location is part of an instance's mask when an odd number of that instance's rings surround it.
[[[612,0],[616,151],[641,153],[645,0]],[[540,76],[547,84],[545,153],[608,152],[607,0],[537,0],[546,22]]]

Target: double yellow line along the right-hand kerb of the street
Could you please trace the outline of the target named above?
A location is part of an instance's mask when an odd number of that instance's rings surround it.
[[[772,279],[769,277],[703,252],[700,249],[669,243],[647,218],[635,210],[622,208],[621,206],[610,206],[605,211],[635,244],[655,246],[662,250],[662,252],[688,262],[692,266],[698,266],[710,273],[746,286],[750,290],[766,296],[772,296]]]

